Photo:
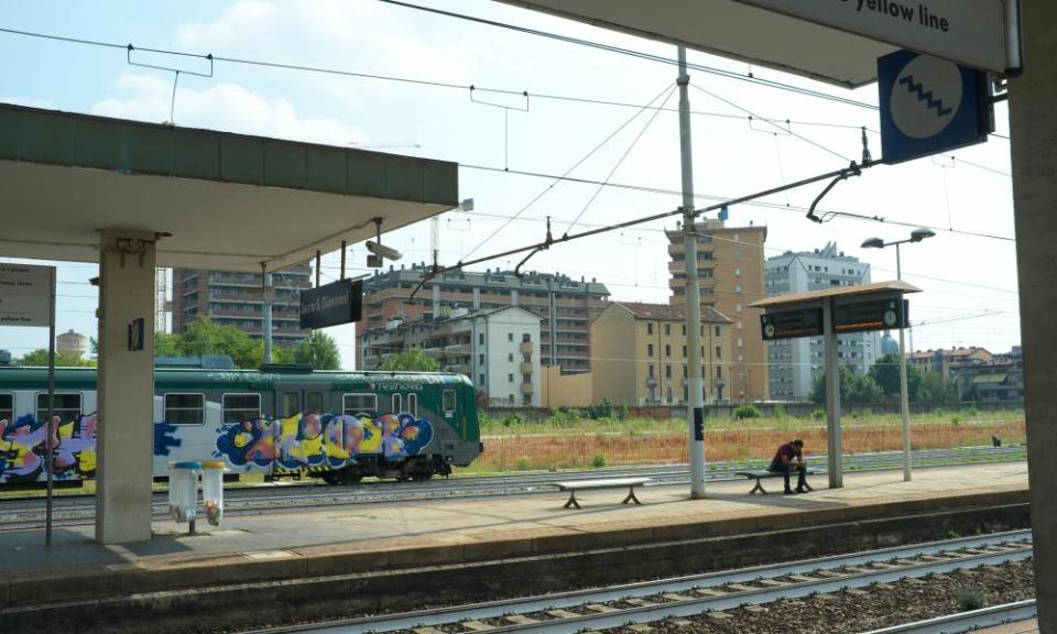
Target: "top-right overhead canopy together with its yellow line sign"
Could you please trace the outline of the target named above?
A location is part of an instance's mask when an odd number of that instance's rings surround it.
[[[901,47],[993,72],[1009,64],[1003,0],[498,1],[847,88],[874,81],[878,58]]]

